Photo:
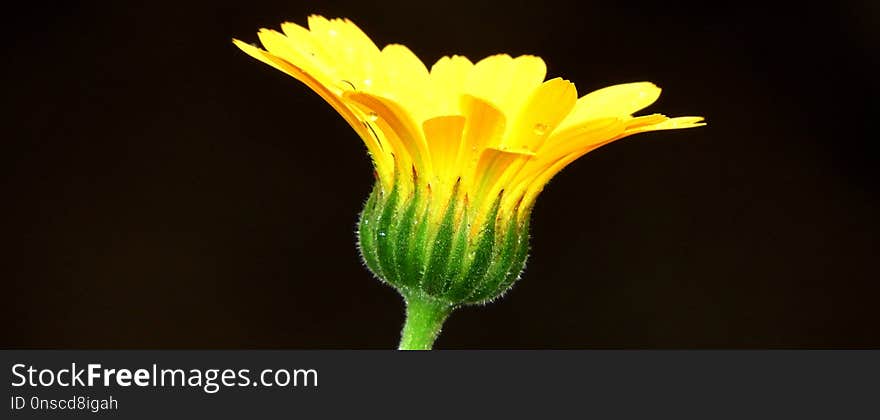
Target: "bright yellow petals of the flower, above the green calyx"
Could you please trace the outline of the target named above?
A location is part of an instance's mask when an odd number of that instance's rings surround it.
[[[259,32],[266,50],[235,44],[305,83],[360,135],[386,188],[395,169],[483,209],[504,190],[503,210],[529,208],[566,165],[630,134],[703,125],[700,117],[634,117],[660,96],[640,82],[577,97],[571,82],[544,81],[539,57],[443,57],[430,70],[407,47],[381,50],[347,19],[308,19]],[[415,188],[415,185],[401,185]]]

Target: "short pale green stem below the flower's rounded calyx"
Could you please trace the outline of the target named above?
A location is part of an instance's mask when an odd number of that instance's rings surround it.
[[[452,305],[416,293],[404,296],[404,300],[406,322],[400,333],[399,350],[431,350]]]

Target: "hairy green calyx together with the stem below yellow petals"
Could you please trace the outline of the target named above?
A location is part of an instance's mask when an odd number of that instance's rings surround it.
[[[452,310],[500,297],[525,265],[528,214],[505,212],[499,195],[478,215],[458,186],[451,196],[439,202],[427,186],[403,194],[377,182],[360,216],[364,262],[407,304],[401,349],[429,349]]]

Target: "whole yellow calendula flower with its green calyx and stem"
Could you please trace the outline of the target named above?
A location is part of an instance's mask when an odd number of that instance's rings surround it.
[[[703,125],[701,117],[634,116],[652,83],[578,98],[544,80],[541,58],[443,57],[428,69],[403,45],[379,49],[347,19],[261,29],[252,57],[303,82],[361,137],[375,187],[360,216],[364,262],[404,297],[400,348],[431,348],[456,307],[491,301],[516,281],[529,216],[547,182],[584,154],[631,134]]]

